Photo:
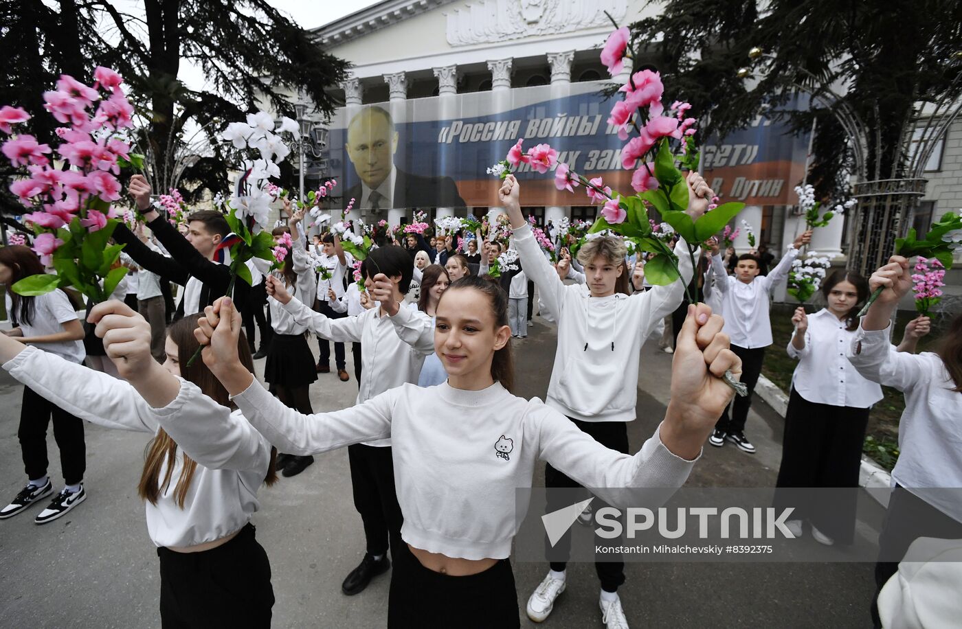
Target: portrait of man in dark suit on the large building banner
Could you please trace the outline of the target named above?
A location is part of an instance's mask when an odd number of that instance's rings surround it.
[[[347,157],[360,183],[343,193],[343,206],[366,211],[391,208],[462,208],[465,200],[450,177],[416,175],[394,166],[397,132],[391,113],[368,107],[347,125]]]

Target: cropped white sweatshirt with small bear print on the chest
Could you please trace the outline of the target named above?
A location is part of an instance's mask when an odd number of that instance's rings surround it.
[[[203,425],[213,400],[198,393],[184,393],[192,400],[185,406]],[[681,487],[695,465],[673,455],[657,430],[634,456],[610,450],[540,400],[517,397],[497,383],[485,390],[404,385],[316,415],[287,408],[256,380],[234,401],[268,440],[291,454],[392,438],[401,537],[447,557],[511,554],[515,490],[531,487],[538,459],[585,487],[668,488],[659,492],[661,499]]]

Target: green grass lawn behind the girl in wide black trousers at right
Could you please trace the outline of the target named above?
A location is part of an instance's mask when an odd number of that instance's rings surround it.
[[[792,372],[795,371],[796,361],[789,358],[785,347],[792,338],[792,313],[794,305],[775,304],[772,306],[772,346],[765,353],[765,363],[762,373],[781,390],[788,393],[792,383]],[[806,306],[808,313],[817,312],[821,306]],[[905,324],[915,318],[912,311],[899,312],[898,325],[895,329],[893,342],[899,344]],[[919,350],[926,351],[942,335],[940,326],[948,326],[949,318],[940,321],[933,319],[932,332],[919,341]],[[869,417],[869,429],[866,437],[865,453],[872,457],[879,465],[891,469],[898,458],[899,417],[905,409],[902,394],[895,389],[883,387],[883,397],[872,409]]]

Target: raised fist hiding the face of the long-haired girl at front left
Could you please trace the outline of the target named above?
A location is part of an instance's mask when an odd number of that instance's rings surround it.
[[[120,376],[131,383],[143,381],[160,367],[150,353],[150,323],[120,301],[105,301],[87,317],[93,333],[104,340],[104,351]]]

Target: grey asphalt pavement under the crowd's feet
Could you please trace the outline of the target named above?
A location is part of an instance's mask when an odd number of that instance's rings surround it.
[[[517,344],[519,394],[544,397],[554,355],[553,328],[539,317]],[[316,349],[316,346],[315,346]],[[350,361],[350,351],[347,352]],[[637,449],[665,411],[671,357],[654,340],[642,350]],[[258,366],[263,367],[263,361]],[[316,410],[338,409],[357,394],[352,380],[326,374],[313,388]],[[22,487],[16,428],[19,384],[0,371],[0,499]],[[780,456],[781,419],[759,400],[747,435],[755,456],[707,448],[689,481],[697,486],[771,487]],[[0,522],[0,627],[159,627],[156,551],[136,493],[147,436],[87,426],[89,497],[69,516],[43,527],[32,511]],[[62,483],[52,435],[51,474]],[[544,484],[539,466],[536,485]],[[59,489],[59,488],[57,488]],[[382,627],[388,579],[342,595],[343,577],[360,561],[364,536],[350,497],[346,451],[316,457],[301,475],[261,492],[254,517],[277,597],[276,627]],[[861,542],[873,531],[860,527]],[[814,544],[810,538],[799,543]],[[544,576],[543,564],[518,563],[519,607]],[[633,627],[865,627],[873,592],[871,564],[628,564],[620,594]],[[594,566],[572,564],[569,588],[546,627],[600,626]],[[534,626],[521,612],[522,626]],[[413,623],[413,626],[418,626]]]

